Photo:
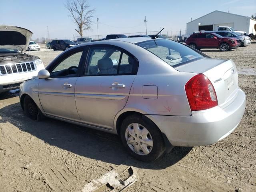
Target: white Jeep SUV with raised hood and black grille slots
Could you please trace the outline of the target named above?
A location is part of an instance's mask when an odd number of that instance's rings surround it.
[[[19,88],[44,69],[39,57],[24,53],[32,34],[21,27],[0,25],[0,93]]]

